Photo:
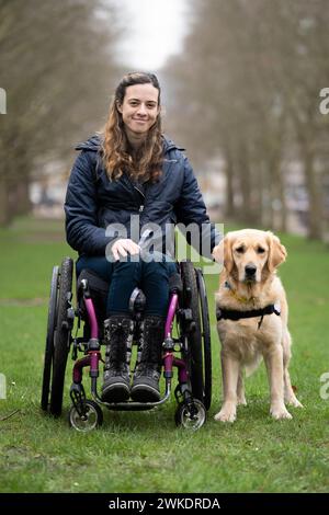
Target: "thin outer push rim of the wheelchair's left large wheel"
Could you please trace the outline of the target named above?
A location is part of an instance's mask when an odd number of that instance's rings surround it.
[[[50,283],[50,296],[48,305],[48,320],[47,320],[47,334],[46,334],[46,348],[44,356],[44,371],[43,371],[43,386],[42,386],[42,410],[48,410],[49,402],[49,387],[52,377],[52,364],[54,356],[54,333],[56,328],[57,317],[57,295],[58,295],[58,266],[54,266],[52,283]]]

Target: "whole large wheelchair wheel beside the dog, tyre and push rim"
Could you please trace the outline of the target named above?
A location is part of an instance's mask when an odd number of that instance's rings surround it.
[[[206,410],[212,401],[212,352],[207,299],[203,275],[190,261],[181,263],[183,282],[182,305],[191,310],[192,321],[183,321],[181,329],[188,335],[185,359],[192,394]]]

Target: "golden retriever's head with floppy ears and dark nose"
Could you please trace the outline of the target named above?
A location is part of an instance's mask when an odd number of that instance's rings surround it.
[[[228,232],[213,256],[224,263],[228,275],[240,283],[260,283],[285,261],[286,250],[270,231],[242,229]]]

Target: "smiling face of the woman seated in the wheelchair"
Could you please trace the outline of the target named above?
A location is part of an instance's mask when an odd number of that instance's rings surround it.
[[[152,84],[134,84],[126,88],[122,104],[117,105],[122,114],[127,136],[147,134],[159,114],[159,91]]]

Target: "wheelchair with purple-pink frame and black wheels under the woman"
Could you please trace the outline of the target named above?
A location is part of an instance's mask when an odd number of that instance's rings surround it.
[[[98,393],[101,347],[105,345],[103,321],[109,284],[94,272],[82,270],[77,278],[77,305],[72,304],[73,261],[65,258],[54,266],[48,305],[46,345],[42,382],[42,410],[59,416],[63,409],[64,386],[68,355],[75,362],[70,387],[69,424],[88,432],[103,422],[102,407],[110,410],[150,410],[163,404],[171,396],[173,369],[178,369],[174,388],[177,426],[198,430],[206,420],[212,402],[212,348],[206,288],[201,268],[191,261],[177,263],[177,273],[170,277],[170,297],[162,344],[164,394],[157,402],[125,401],[109,403]],[[145,296],[135,288],[131,311],[135,321],[133,343],[137,342],[143,320]],[[76,325],[75,334],[73,329]],[[80,329],[82,325],[82,335]],[[78,354],[83,354],[78,358]],[[104,363],[104,362],[103,362]],[[90,392],[87,399],[82,385],[83,368],[89,368]]]

